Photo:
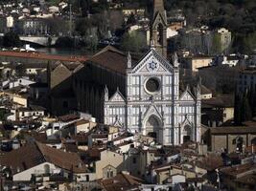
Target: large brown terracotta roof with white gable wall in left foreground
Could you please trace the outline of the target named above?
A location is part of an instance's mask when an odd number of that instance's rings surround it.
[[[4,156],[0,156],[0,163],[10,166],[13,174],[46,161],[74,173],[87,172],[87,168],[77,154],[63,152],[39,142],[26,145]]]

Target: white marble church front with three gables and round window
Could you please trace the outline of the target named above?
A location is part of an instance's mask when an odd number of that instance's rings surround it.
[[[108,97],[105,123],[155,137],[164,145],[200,140],[200,90],[179,92],[178,62],[171,64],[153,48],[131,68],[128,55],[127,95]]]

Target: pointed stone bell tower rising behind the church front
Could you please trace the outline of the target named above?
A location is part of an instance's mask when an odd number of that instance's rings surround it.
[[[151,48],[167,57],[167,16],[163,0],[153,1]]]

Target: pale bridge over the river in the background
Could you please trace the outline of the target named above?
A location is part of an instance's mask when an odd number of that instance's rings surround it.
[[[24,42],[34,43],[40,46],[55,45],[58,37],[54,36],[19,36],[19,39]]]

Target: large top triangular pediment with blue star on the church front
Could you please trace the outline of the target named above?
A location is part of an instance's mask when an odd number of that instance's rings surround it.
[[[151,49],[138,64],[133,68],[132,73],[173,73],[174,68],[170,62],[160,53]]]

